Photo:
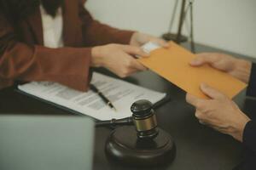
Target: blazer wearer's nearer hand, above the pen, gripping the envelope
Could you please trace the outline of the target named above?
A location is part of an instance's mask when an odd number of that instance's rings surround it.
[[[91,66],[103,66],[119,77],[128,77],[137,71],[147,70],[135,56],[147,57],[143,49],[131,45],[108,44],[91,50]]]

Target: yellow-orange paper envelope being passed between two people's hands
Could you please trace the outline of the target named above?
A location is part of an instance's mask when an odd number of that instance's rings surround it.
[[[202,82],[218,89],[230,99],[247,87],[246,83],[223,71],[213,69],[209,65],[192,67],[189,65],[192,59],[195,59],[195,54],[190,53],[175,42],[170,42],[169,48],[155,49],[148,58],[138,60],[148,69],[166,78],[177,87],[203,99],[207,99],[207,96],[201,92],[200,85]]]

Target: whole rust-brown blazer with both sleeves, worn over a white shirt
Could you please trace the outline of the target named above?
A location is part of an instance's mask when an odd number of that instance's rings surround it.
[[[0,11],[0,89],[15,81],[59,82],[86,90],[90,80],[91,47],[129,43],[132,31],[103,25],[90,16],[83,0],[65,0],[63,11],[64,48],[44,47],[40,10],[17,27]]]

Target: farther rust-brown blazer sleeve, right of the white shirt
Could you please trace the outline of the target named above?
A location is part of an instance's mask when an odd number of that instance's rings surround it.
[[[82,20],[83,37],[86,45],[103,45],[108,43],[128,44],[134,31],[124,31],[104,25],[94,20],[84,8],[84,0],[79,4],[79,17]]]

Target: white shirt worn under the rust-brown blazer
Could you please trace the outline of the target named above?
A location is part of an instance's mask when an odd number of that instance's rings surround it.
[[[40,6],[43,24],[44,46],[48,48],[61,48],[63,42],[63,18],[61,8],[57,9],[55,17],[47,14],[44,7]]]

